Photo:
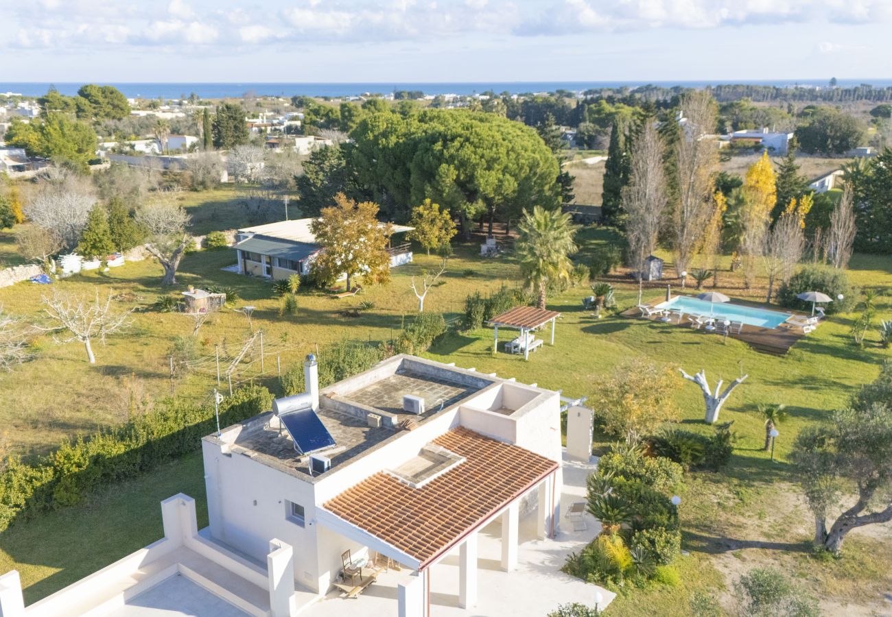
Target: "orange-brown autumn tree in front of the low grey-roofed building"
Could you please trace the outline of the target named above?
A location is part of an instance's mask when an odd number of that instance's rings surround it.
[[[318,280],[334,281],[347,276],[347,291],[355,276],[370,283],[383,283],[390,276],[387,243],[393,233],[390,223],[377,219],[378,204],[355,202],[343,193],[335,195],[335,205],[323,208],[310,228],[322,247],[313,260]]]

